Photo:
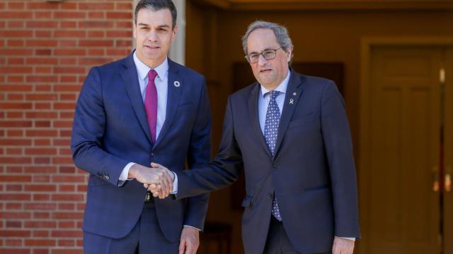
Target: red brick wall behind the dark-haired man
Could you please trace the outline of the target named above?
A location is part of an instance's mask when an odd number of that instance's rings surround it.
[[[0,254],[82,253],[69,141],[91,66],[132,47],[132,0],[0,1]]]

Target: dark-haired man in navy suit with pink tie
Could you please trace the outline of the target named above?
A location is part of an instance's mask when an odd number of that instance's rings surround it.
[[[139,1],[134,17],[136,49],[92,68],[76,105],[71,150],[90,173],[84,252],[196,253],[209,194],[154,199],[143,183],[173,184],[151,162],[175,172],[209,162],[205,79],[167,57],[177,30],[172,1]]]

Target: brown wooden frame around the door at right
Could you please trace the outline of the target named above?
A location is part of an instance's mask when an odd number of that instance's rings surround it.
[[[369,236],[369,232],[363,228],[369,228],[369,177],[361,174],[361,171],[369,169],[370,157],[370,133],[371,133],[371,52],[372,47],[376,46],[437,46],[453,47],[453,37],[362,37],[360,40],[360,100],[359,100],[359,150],[358,150],[358,169],[359,180],[359,203],[360,222],[362,227],[362,237]],[[367,174],[369,176],[370,174]],[[359,240],[360,241],[360,240]],[[367,253],[367,243],[360,241],[357,246],[358,253]]]

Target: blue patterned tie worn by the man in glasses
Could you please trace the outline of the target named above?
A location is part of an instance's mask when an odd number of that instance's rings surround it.
[[[270,101],[268,105],[268,112],[266,113],[266,121],[264,123],[264,138],[266,140],[266,143],[268,143],[270,153],[274,155],[275,142],[277,141],[278,124],[280,123],[280,109],[278,109],[275,98],[280,95],[280,92],[270,91],[266,92],[265,95],[270,95]],[[275,198],[275,195],[272,200],[271,212],[276,219],[278,219],[280,222],[282,221],[280,210],[278,209],[277,198]]]

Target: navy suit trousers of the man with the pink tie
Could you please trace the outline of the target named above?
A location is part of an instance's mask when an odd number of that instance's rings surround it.
[[[178,247],[179,241],[171,243],[162,234],[152,202],[144,204],[137,224],[123,238],[108,238],[84,231],[85,254],[176,254]]]

